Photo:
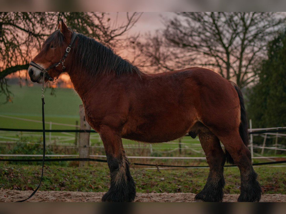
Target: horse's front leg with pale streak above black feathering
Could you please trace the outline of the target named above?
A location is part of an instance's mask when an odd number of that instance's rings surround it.
[[[121,136],[108,126],[103,126],[100,129],[100,136],[110,170],[110,188],[103,195],[102,201],[134,201],[136,187],[130,174],[129,160],[125,155]]]

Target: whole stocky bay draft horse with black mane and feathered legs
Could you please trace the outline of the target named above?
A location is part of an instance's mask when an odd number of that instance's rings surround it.
[[[100,134],[111,180],[102,201],[130,202],[136,195],[122,138],[159,143],[186,133],[199,137],[210,167],[197,201],[223,200],[226,160],[241,173],[238,201],[260,200],[261,187],[247,148],[243,96],[235,83],[198,67],[143,73],[110,48],[73,32],[62,20],[32,62],[28,73],[38,83],[57,78],[65,68],[82,99],[86,120]],[[48,78],[43,79],[43,73]]]

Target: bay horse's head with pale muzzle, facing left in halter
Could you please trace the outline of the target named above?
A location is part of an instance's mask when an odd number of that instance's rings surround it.
[[[58,21],[57,28],[43,43],[40,53],[30,62],[28,73],[32,82],[42,83],[44,72],[45,80],[56,79],[65,71],[65,65],[71,62],[72,57],[67,57],[67,54],[76,34],[67,28],[63,20]]]

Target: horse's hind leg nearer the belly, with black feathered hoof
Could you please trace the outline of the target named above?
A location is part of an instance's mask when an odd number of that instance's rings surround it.
[[[206,184],[195,200],[206,202],[223,201],[223,188],[225,179],[223,177],[223,166],[225,164],[225,153],[221,148],[219,139],[209,130],[198,134],[202,148],[206,154],[206,161],[210,167]]]

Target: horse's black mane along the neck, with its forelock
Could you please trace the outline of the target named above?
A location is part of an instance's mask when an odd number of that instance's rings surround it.
[[[141,74],[141,71],[136,66],[132,65],[128,60],[122,59],[116,55],[110,47],[102,45],[92,38],[78,34],[78,43],[76,47],[76,66],[84,68],[92,76],[98,74],[109,74],[116,72],[117,76],[121,74]],[[57,30],[53,32],[43,44],[43,49],[47,49],[49,44],[61,47],[64,37]]]

